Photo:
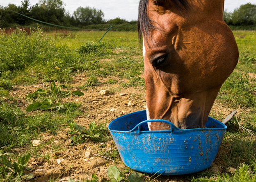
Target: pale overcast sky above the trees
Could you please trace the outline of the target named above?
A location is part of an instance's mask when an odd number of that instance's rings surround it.
[[[30,3],[34,5],[38,1],[30,0]],[[65,9],[71,14],[80,6],[89,6],[103,10],[104,18],[107,20],[118,16],[129,21],[137,20],[139,0],[63,0],[63,2],[66,4]],[[225,0],[225,9],[230,12],[247,2],[256,4],[256,0]],[[21,5],[21,0],[0,0],[2,6],[7,6],[9,3]]]

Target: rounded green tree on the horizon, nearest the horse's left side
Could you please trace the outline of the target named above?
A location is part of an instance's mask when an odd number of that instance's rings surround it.
[[[82,25],[101,24],[103,22],[103,11],[90,7],[78,7],[74,11],[75,20]]]

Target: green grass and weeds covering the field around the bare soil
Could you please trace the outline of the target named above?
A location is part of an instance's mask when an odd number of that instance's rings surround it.
[[[86,80],[83,81],[82,86],[79,86],[81,90],[100,84],[103,88],[106,85],[110,86],[110,92],[121,92],[126,87],[140,87],[141,92],[130,95],[133,99],[140,99],[145,89],[144,79],[140,77],[144,71],[144,64],[137,32],[110,31],[100,43],[98,40],[105,33],[103,31],[41,32],[38,29],[31,36],[26,36],[22,30],[17,30],[11,36],[0,34],[0,153],[13,152],[18,157],[21,154],[15,153],[14,149],[26,146],[24,154],[29,152],[33,157],[49,160],[50,154],[41,154],[41,148],[46,145],[50,146],[52,151],[62,151],[65,148],[51,140],[32,148],[30,141],[40,138],[40,133],[50,131],[54,134],[63,124],[72,123],[81,115],[82,108],[77,103],[64,103],[61,111],[36,110],[31,114],[19,108],[16,102],[19,98],[11,96],[10,93],[14,88],[42,82],[50,84],[55,81],[66,85],[66,89],[70,90],[73,76],[77,72],[82,72]],[[214,173],[211,169],[207,169],[185,175],[189,181],[255,181],[256,142],[255,136],[248,131],[256,133],[256,77],[253,76],[256,74],[256,32],[233,31],[233,33],[240,52],[239,63],[222,85],[216,102],[230,109],[240,108],[241,112],[227,124],[228,130],[219,150],[222,161],[218,165],[222,170]],[[109,75],[128,81],[119,83],[112,78],[104,83],[99,81],[99,77],[106,78]],[[116,83],[118,86],[111,86]],[[47,98],[57,103],[62,99],[62,97],[53,98],[49,92],[31,97],[31,103],[42,102]],[[210,117],[224,119],[224,115],[215,110],[210,112]],[[237,125],[238,122],[243,128]],[[109,140],[105,128],[103,130],[100,128],[101,126],[94,126],[87,131],[89,133],[74,129],[73,144],[79,144],[80,140],[85,138],[92,141]],[[84,138],[77,138],[80,135]],[[98,138],[100,135],[103,137]],[[101,155],[112,159],[117,156],[114,150]],[[231,173],[229,171],[231,167],[237,170]],[[3,178],[3,171],[0,162],[0,180]],[[17,180],[14,175],[2,181],[11,181],[9,179]]]

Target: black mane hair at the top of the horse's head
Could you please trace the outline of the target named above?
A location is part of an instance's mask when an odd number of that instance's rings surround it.
[[[185,13],[185,10],[189,8],[189,4],[187,0],[171,0],[174,2],[176,7],[179,9],[181,13]],[[139,1],[139,12],[138,12],[138,36],[139,36],[139,42],[142,43],[142,35],[144,37],[149,36],[149,38],[152,37],[152,30],[153,29],[159,29],[158,27],[155,27],[148,16],[147,9],[148,9],[148,2],[149,0],[140,0]]]

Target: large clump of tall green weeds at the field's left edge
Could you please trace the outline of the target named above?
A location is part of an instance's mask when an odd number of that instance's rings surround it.
[[[56,46],[55,40],[43,35],[41,29],[30,32],[31,36],[18,28],[10,36],[0,32],[0,77],[8,71],[32,70],[33,76],[46,81],[70,81],[81,56],[67,46]]]

